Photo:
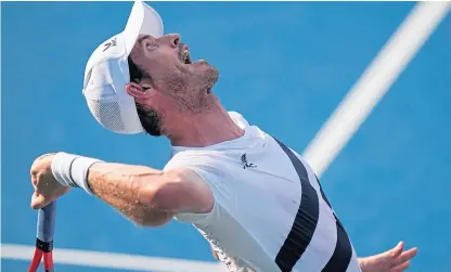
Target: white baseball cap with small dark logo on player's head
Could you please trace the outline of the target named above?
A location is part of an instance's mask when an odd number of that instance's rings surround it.
[[[83,95],[89,111],[106,129],[117,133],[143,132],[134,99],[126,91],[130,82],[128,55],[140,34],[163,36],[163,22],[147,4],[136,1],[125,30],[102,42],[88,61]]]

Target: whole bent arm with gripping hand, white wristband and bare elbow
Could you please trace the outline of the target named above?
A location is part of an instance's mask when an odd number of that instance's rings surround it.
[[[188,169],[156,170],[70,154],[48,154],[31,166],[33,208],[79,186],[140,225],[162,225],[179,212],[208,212],[212,194]]]

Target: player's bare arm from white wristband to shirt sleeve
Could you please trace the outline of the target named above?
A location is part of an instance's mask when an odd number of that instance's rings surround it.
[[[208,212],[212,196],[189,170],[98,163],[88,184],[101,199],[141,225],[160,225],[178,212]]]

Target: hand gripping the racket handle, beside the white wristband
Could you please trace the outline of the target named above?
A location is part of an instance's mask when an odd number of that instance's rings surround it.
[[[52,173],[54,154],[38,157],[31,165],[31,184],[35,193],[31,196],[31,208],[40,209],[49,203],[70,191],[70,187],[61,185]]]

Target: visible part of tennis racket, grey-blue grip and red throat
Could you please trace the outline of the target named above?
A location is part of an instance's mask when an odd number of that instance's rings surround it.
[[[46,272],[53,270],[53,232],[55,226],[56,202],[52,202],[38,211],[36,249],[28,272],[36,272],[43,259]]]

